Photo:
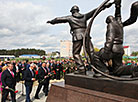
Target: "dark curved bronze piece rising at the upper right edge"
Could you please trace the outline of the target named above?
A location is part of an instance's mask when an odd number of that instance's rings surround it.
[[[138,17],[138,1],[132,4],[130,17],[125,22],[123,22],[123,26],[128,26],[135,23],[137,21],[137,17]]]

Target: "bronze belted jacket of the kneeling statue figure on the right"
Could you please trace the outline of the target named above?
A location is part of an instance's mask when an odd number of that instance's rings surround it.
[[[123,49],[123,27],[117,21],[107,26],[105,51],[113,53],[124,53]]]

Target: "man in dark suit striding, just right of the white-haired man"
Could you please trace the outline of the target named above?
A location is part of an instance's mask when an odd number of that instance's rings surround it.
[[[47,75],[48,75],[48,71],[46,70],[46,63],[43,63],[42,66],[38,70],[38,82],[39,82],[39,85],[38,85],[36,93],[35,93],[35,99],[40,99],[38,94],[39,94],[42,86],[44,86],[43,92],[45,93],[45,88],[46,88],[46,85],[47,85],[46,84]],[[42,81],[42,80],[44,80],[44,81]],[[45,93],[45,94],[47,94],[47,93]]]

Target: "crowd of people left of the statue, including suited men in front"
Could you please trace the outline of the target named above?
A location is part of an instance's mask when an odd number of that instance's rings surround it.
[[[88,66],[86,61],[84,63]],[[19,81],[25,81],[26,102],[31,102],[30,93],[34,81],[38,81],[39,83],[35,93],[35,99],[39,99],[39,92],[42,86],[44,86],[43,92],[47,96],[50,80],[60,80],[64,78],[65,74],[72,73],[75,70],[77,70],[77,67],[75,61],[72,59],[60,61],[54,59],[39,61],[0,61],[1,102],[6,102],[9,99],[9,93],[11,93],[12,102],[16,102],[15,86]]]

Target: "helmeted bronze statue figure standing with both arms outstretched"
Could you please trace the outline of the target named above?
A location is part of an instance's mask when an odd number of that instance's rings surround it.
[[[101,8],[100,11],[102,11],[107,7],[109,7],[109,5]],[[47,21],[47,23],[50,23],[50,24],[69,23],[71,27],[70,32],[72,34],[72,41],[73,41],[73,57],[78,68],[78,71],[76,71],[76,74],[86,74],[84,64],[80,56],[80,52],[83,45],[83,36],[87,28],[87,21],[94,15],[96,10],[97,9],[94,9],[86,14],[81,14],[79,13],[79,7],[75,5],[70,10],[72,15],[57,17],[51,21]],[[90,51],[87,51],[87,52],[88,54],[90,54],[89,56],[92,62],[93,55],[94,55],[94,48],[91,43],[89,43],[89,48],[90,48]]]

